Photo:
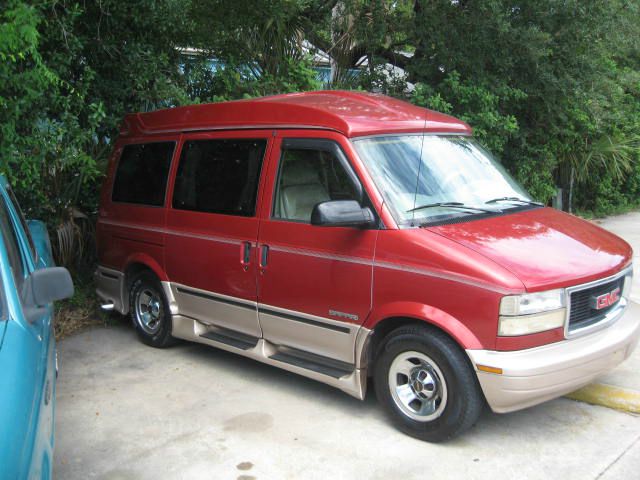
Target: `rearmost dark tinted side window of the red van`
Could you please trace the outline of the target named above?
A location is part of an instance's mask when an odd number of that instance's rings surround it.
[[[175,142],[126,145],[122,150],[111,199],[161,207]]]

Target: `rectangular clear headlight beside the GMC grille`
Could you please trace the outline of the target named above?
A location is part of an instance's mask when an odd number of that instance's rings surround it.
[[[498,335],[529,335],[559,328],[566,313],[563,289],[502,297]]]

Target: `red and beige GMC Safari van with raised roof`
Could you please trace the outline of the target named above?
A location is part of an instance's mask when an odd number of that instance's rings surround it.
[[[440,441],[627,358],[632,251],[531,199],[455,118],[312,92],[128,115],[97,293],[140,339],[337,387]]]

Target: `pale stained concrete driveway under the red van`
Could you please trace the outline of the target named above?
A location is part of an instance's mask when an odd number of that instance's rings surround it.
[[[372,389],[360,402],[203,345],[156,350],[124,320],[59,355],[55,478],[640,478],[640,416],[565,398],[433,445],[396,431]]]

